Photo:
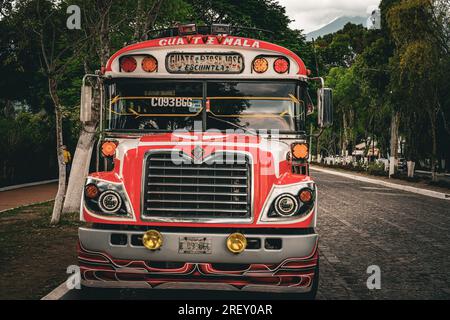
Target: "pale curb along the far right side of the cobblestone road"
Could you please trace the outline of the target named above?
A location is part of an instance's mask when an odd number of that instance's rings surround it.
[[[428,190],[428,189],[421,189],[421,188],[405,186],[405,185],[401,185],[401,184],[397,184],[397,183],[381,181],[381,180],[377,180],[377,179],[360,177],[360,176],[356,176],[353,174],[343,173],[343,172],[329,170],[329,169],[322,169],[322,168],[318,168],[315,166],[310,166],[310,168],[313,171],[319,171],[319,172],[333,174],[335,176],[345,177],[348,179],[358,180],[358,181],[372,183],[372,184],[378,184],[378,185],[385,186],[388,188],[417,193],[417,194],[421,194],[423,196],[428,196],[428,197],[432,197],[432,198],[450,200],[450,194],[448,194],[448,193],[442,193],[442,192],[432,191],[432,190]]]

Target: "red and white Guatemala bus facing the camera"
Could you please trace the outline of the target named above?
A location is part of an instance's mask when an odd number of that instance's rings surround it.
[[[224,29],[181,26],[102,68],[101,157],[79,229],[84,286],[315,295],[305,121],[318,79],[290,50]],[[83,85],[84,121],[91,91]],[[331,91],[318,101],[325,126]]]

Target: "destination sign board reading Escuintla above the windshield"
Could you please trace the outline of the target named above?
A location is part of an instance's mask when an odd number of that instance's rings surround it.
[[[170,73],[236,74],[244,70],[244,58],[239,53],[169,53],[166,69]]]

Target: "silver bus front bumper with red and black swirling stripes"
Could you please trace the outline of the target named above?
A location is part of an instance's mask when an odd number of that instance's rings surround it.
[[[260,239],[260,248],[240,254],[228,251],[225,243],[229,233],[219,230],[162,231],[164,242],[157,251],[139,243],[143,233],[80,228],[78,260],[82,284],[103,288],[308,293],[318,268],[316,233],[252,233],[246,236]],[[199,236],[210,241],[211,252],[180,253],[180,239]],[[118,238],[122,240],[120,244]],[[266,239],[281,239],[281,247],[266,249]]]

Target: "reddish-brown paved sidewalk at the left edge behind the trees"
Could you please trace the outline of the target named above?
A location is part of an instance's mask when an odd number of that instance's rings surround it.
[[[37,202],[53,200],[57,191],[57,182],[15,190],[1,191],[0,212]]]

